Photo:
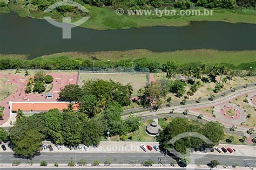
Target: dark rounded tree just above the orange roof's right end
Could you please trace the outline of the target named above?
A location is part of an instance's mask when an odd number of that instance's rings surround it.
[[[59,101],[77,102],[83,96],[82,89],[76,84],[69,84],[60,89]]]

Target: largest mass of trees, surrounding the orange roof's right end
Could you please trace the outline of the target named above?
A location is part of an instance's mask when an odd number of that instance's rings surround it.
[[[65,86],[59,99],[70,102],[69,109],[52,109],[31,117],[19,114],[9,129],[15,154],[31,157],[41,150],[45,139],[55,144],[90,146],[98,145],[107,132],[109,136],[125,136],[136,131],[140,117],[121,119],[122,106],[130,104],[131,93],[130,84],[123,86],[111,80],[89,80],[82,88],[75,84]],[[77,105],[78,111],[73,111]]]

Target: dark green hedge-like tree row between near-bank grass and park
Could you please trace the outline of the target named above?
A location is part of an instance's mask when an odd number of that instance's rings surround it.
[[[94,64],[93,64],[94,63]],[[249,70],[248,75],[253,74],[253,70],[256,68],[256,62],[241,63],[238,66],[234,66],[230,63],[222,63],[228,70]],[[149,61],[146,58],[136,60],[119,60],[119,61],[103,61],[103,60],[89,60],[82,58],[69,58],[66,56],[54,57],[54,58],[36,58],[31,60],[22,60],[15,58],[1,58],[0,69],[46,69],[46,70],[117,70],[117,71],[137,71],[137,72],[167,72],[170,76],[174,74],[183,73],[187,68],[201,68],[205,67],[203,74],[208,74],[213,65],[204,65],[201,62],[191,62],[185,64],[179,64],[176,61],[167,61],[161,65],[157,61]],[[235,74],[240,74],[235,72]]]

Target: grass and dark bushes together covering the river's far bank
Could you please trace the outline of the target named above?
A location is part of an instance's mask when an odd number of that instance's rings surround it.
[[[1,2],[2,1],[2,2]],[[21,17],[32,17],[43,19],[47,9],[55,1],[0,1],[0,13],[14,11]],[[146,26],[187,26],[193,21],[220,21],[229,23],[252,23],[256,24],[255,1],[184,1],[184,2],[165,2],[165,1],[76,1],[86,7],[89,13],[82,13],[72,6],[62,6],[48,16],[53,19],[61,20],[63,16],[71,16],[72,20],[78,20],[83,16],[90,16],[89,20],[80,25],[89,29],[108,30],[108,29],[129,29],[130,27]],[[139,3],[140,2],[140,3]],[[122,8],[124,11],[137,9],[198,9],[203,8],[214,10],[213,15],[205,16],[129,16],[124,13],[122,16],[116,14],[116,9]]]

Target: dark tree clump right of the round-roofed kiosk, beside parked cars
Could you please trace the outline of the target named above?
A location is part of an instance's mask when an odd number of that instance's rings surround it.
[[[186,148],[200,150],[200,147],[211,148],[217,145],[219,140],[224,138],[224,127],[218,122],[207,122],[206,124],[198,121],[188,120],[187,118],[174,118],[157,136],[157,141],[161,147],[174,148],[180,153],[186,153]],[[208,138],[212,144],[207,143],[201,138],[187,136],[177,140],[174,144],[169,141],[178,134],[185,132],[197,132]]]

